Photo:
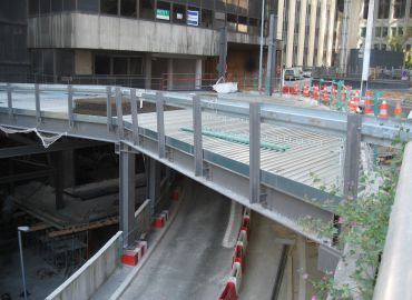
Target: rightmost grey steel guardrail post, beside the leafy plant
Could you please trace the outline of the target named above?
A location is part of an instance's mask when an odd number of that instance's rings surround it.
[[[347,114],[343,194],[345,200],[357,198],[361,156],[361,114]]]

